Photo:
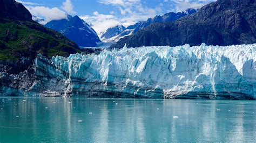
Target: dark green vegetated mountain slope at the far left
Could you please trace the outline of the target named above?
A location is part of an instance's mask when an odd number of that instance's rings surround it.
[[[0,61],[35,59],[44,56],[68,56],[79,47],[62,34],[32,20],[30,12],[14,0],[0,0]]]

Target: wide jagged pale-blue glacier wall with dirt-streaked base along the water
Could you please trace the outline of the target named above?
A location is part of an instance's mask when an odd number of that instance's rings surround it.
[[[0,75],[2,96],[256,99],[256,44],[39,54],[30,71]]]

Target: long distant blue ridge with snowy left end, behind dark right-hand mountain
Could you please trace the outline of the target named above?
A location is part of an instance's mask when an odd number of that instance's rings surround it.
[[[106,32],[104,32],[104,33],[108,33],[107,35],[110,35],[110,36],[106,37],[106,36],[102,35],[102,37],[100,37],[100,38],[106,42],[117,42],[117,41],[119,41],[119,39],[122,39],[128,35],[134,34],[134,33],[138,32],[139,30],[149,26],[150,24],[160,23],[160,22],[173,22],[181,17],[184,17],[186,15],[191,15],[192,13],[195,13],[195,12],[197,12],[196,9],[190,8],[184,12],[166,13],[163,16],[156,16],[154,18],[149,18],[144,22],[138,22],[136,24],[130,25],[126,29],[122,28],[122,32],[120,32],[120,33],[118,32],[119,34],[116,34],[117,32],[113,30],[113,28],[117,28],[118,26],[112,27],[112,28],[107,29]],[[112,33],[112,31],[113,31],[113,33]],[[111,37],[111,35],[113,35],[113,36]]]

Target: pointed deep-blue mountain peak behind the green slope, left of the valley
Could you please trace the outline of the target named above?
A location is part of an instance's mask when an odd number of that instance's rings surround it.
[[[62,33],[80,47],[96,47],[101,42],[95,30],[78,16],[52,20],[45,27]]]

